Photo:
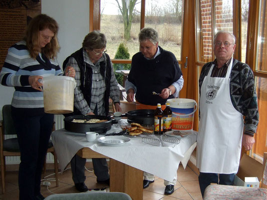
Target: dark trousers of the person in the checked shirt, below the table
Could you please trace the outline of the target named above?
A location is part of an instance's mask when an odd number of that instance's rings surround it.
[[[74,183],[85,181],[85,162],[86,158],[82,158],[79,155],[74,155],[71,159],[72,179]],[[104,181],[109,179],[107,160],[105,158],[92,158],[92,162],[97,180]]]

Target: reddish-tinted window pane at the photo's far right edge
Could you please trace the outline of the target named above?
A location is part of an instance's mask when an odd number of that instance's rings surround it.
[[[259,28],[257,36],[257,61],[256,70],[267,72],[267,0],[261,1],[259,12]]]

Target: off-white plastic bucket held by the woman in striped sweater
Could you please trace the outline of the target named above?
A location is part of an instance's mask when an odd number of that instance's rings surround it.
[[[73,112],[76,81],[70,76],[46,76],[43,83],[45,112],[63,114]]]

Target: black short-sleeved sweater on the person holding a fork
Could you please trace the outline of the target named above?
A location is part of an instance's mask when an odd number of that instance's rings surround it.
[[[146,105],[165,104],[167,99],[153,95],[152,92],[161,93],[163,88],[170,86],[182,75],[174,54],[158,47],[160,54],[154,59],[146,59],[142,52],[133,55],[128,75],[128,80],[136,86],[136,100]],[[168,98],[173,98],[173,95]]]

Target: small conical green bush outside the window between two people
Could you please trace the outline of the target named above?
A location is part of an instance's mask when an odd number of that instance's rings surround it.
[[[124,43],[120,43],[117,52],[115,54],[115,59],[129,59],[130,53],[127,46]],[[131,69],[131,64],[113,64],[114,71],[116,70],[129,70]],[[116,79],[120,85],[123,85],[123,75],[115,72]]]

